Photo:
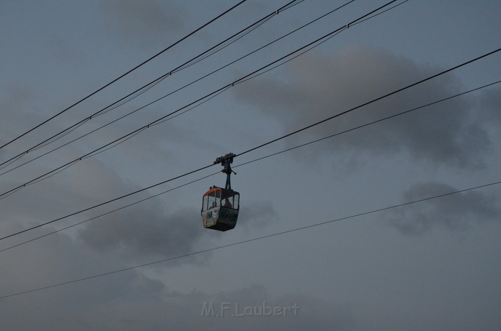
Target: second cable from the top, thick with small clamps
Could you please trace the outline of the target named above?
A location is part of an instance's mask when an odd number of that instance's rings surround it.
[[[256,24],[261,25],[261,24],[260,24],[260,22],[262,22],[262,21],[266,21],[266,20],[268,20],[268,18],[269,18],[269,17],[272,17],[272,16],[274,16],[274,15],[277,15],[277,14],[278,14],[281,10],[288,9],[288,8],[286,8],[286,7],[287,7],[287,6],[289,6],[290,4],[292,4],[292,3],[296,2],[296,1],[298,1],[298,0],[292,0],[292,1],[290,1],[289,3],[287,3],[287,4],[286,4],[286,5],[284,5],[284,6],[282,6],[281,8],[279,8],[279,9],[277,9],[277,10],[273,11],[272,13],[270,13],[270,14],[266,15],[265,17],[261,18],[260,20],[258,20],[258,21],[256,21],[256,22],[254,22],[254,23],[252,23],[252,24],[250,24],[250,25],[248,25],[247,27],[245,27],[245,28],[241,29],[240,31],[238,31],[238,32],[234,33],[232,36],[230,36],[230,37],[228,37],[228,38],[224,39],[223,41],[221,41],[221,42],[219,42],[218,44],[216,44],[216,45],[214,45],[214,46],[210,47],[209,49],[207,49],[207,50],[205,50],[204,52],[202,52],[202,53],[200,53],[200,54],[196,55],[195,57],[193,57],[193,58],[189,59],[188,61],[184,62],[183,64],[181,64],[181,65],[179,65],[179,66],[177,66],[176,68],[174,68],[174,69],[172,69],[172,70],[170,70],[170,71],[168,71],[168,72],[166,72],[166,73],[162,74],[161,76],[159,76],[158,78],[156,78],[156,79],[154,79],[154,80],[150,81],[149,83],[147,83],[147,84],[145,84],[145,85],[143,85],[143,86],[139,87],[138,89],[136,89],[136,90],[134,90],[133,92],[131,92],[131,93],[127,94],[126,96],[122,97],[121,99],[119,99],[119,100],[117,100],[117,101],[115,101],[115,102],[113,102],[113,103],[109,104],[108,106],[106,106],[106,107],[104,107],[104,108],[102,108],[102,109],[100,109],[100,110],[96,111],[96,112],[95,112],[95,113],[93,113],[92,115],[87,116],[86,118],[84,118],[84,119],[82,119],[82,120],[78,121],[77,123],[73,124],[72,126],[70,126],[70,127],[66,128],[66,129],[64,129],[64,130],[62,130],[62,131],[60,131],[60,132],[56,133],[55,135],[53,135],[53,136],[51,136],[51,137],[47,138],[46,140],[44,140],[44,141],[42,141],[42,142],[40,142],[40,143],[36,144],[35,146],[33,146],[33,147],[31,147],[31,148],[27,149],[26,151],[23,151],[23,152],[21,152],[20,154],[18,154],[18,155],[16,155],[16,156],[14,156],[14,157],[12,157],[12,158],[10,158],[10,159],[8,159],[8,160],[6,160],[6,161],[4,161],[4,162],[0,163],[0,166],[2,166],[3,164],[5,164],[5,163],[7,163],[7,162],[11,161],[12,159],[14,159],[14,158],[16,158],[16,157],[18,157],[18,156],[20,156],[20,155],[25,155],[25,154],[27,154],[30,150],[34,150],[36,147],[38,147],[38,146],[40,146],[40,145],[42,145],[42,144],[46,143],[47,141],[49,141],[49,140],[51,140],[51,139],[54,139],[55,137],[58,137],[59,135],[61,135],[62,133],[66,132],[67,130],[69,130],[69,129],[71,129],[71,128],[75,127],[76,125],[80,125],[81,123],[83,123],[83,122],[85,122],[85,121],[87,121],[87,120],[90,120],[90,119],[92,119],[92,118],[94,118],[94,117],[96,117],[96,116],[98,116],[98,115],[102,114],[103,112],[107,112],[108,110],[106,110],[106,109],[108,109],[108,108],[112,107],[113,105],[115,105],[115,104],[117,104],[117,103],[121,102],[122,100],[124,100],[124,99],[128,98],[129,96],[131,96],[131,95],[133,95],[133,94],[135,94],[135,93],[137,93],[138,91],[141,91],[141,90],[143,90],[143,89],[144,89],[144,88],[146,88],[146,87],[147,87],[147,89],[146,89],[146,90],[148,90],[149,88],[151,88],[152,86],[154,86],[154,85],[156,85],[158,82],[160,82],[161,80],[165,79],[167,76],[172,75],[172,72],[177,72],[177,71],[181,70],[181,69],[183,68],[183,66],[185,66],[187,63],[190,63],[190,62],[192,62],[193,60],[197,59],[198,57],[200,57],[200,56],[204,55],[205,53],[210,52],[212,49],[214,49],[214,48],[218,47],[219,45],[223,44],[224,42],[226,42],[226,41],[230,40],[231,38],[235,37],[236,35],[238,35],[238,34],[240,34],[240,33],[244,32],[244,31],[248,30],[248,29],[249,29],[249,28],[251,28],[252,26],[254,26],[254,25],[256,25]],[[284,9],[284,8],[285,8],[285,9]],[[259,25],[258,25],[258,26],[259,26]],[[246,33],[248,33],[248,32],[246,32]],[[235,40],[235,41],[236,41],[236,40]],[[232,42],[233,42],[233,41],[232,41]],[[232,42],[230,42],[230,43],[232,43]],[[230,43],[229,43],[229,44],[230,44]],[[225,46],[224,46],[224,47],[225,47]],[[224,48],[224,47],[222,47],[222,48]],[[222,48],[220,48],[220,49],[222,49]],[[219,50],[220,50],[220,49],[219,49]],[[218,51],[218,50],[217,50],[217,51]],[[151,84],[153,84],[153,85],[152,85],[152,86],[150,86]],[[150,87],[148,87],[148,86],[150,86]],[[146,90],[145,90],[145,91],[146,91]],[[144,91],[143,91],[143,92],[144,92]],[[143,92],[141,92],[141,93],[143,93]],[[141,94],[141,93],[140,93],[140,94]],[[131,98],[131,99],[132,99],[132,98]],[[83,100],[81,100],[81,101],[83,101]],[[79,101],[79,102],[80,102],[80,101]],[[127,102],[127,101],[125,101],[125,102]],[[76,103],[76,104],[77,104],[77,103]],[[76,104],[74,104],[74,105],[76,105]],[[114,108],[115,108],[115,107],[114,107]],[[114,108],[112,108],[112,109],[114,109]],[[69,109],[69,108],[68,108],[68,109]],[[105,110],[106,110],[106,111],[105,111]],[[111,110],[111,109],[110,109],[110,110]],[[28,133],[28,132],[27,132],[27,133]],[[56,138],[56,139],[54,139],[53,141],[55,141],[55,140],[57,140],[57,139],[59,139],[59,137],[58,137],[58,138]],[[13,140],[13,141],[14,141],[14,140]],[[12,142],[12,141],[11,141],[11,142]],[[51,142],[52,142],[52,141],[51,141]]]

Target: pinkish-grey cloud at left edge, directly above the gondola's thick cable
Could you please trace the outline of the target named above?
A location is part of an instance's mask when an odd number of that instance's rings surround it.
[[[18,176],[16,181],[4,180],[4,191],[46,171],[47,168],[38,168],[36,173],[29,173],[26,177]],[[131,192],[137,188],[137,185],[125,182],[119,174],[97,158],[84,159],[52,177],[27,185],[0,200],[4,220],[0,229],[3,233],[10,233],[12,227],[19,229],[37,225],[115,198],[120,192]],[[48,194],[48,191],[51,193]],[[67,220],[55,224],[65,224]]]

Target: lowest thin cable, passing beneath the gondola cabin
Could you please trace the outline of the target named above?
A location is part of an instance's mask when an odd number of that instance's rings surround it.
[[[247,240],[242,240],[242,241],[238,241],[238,242],[233,242],[233,243],[229,243],[229,244],[226,244],[226,245],[221,245],[221,246],[217,246],[217,247],[213,247],[213,248],[198,250],[198,251],[194,251],[194,252],[191,252],[191,253],[177,255],[177,256],[173,256],[173,257],[169,257],[169,258],[165,258],[165,259],[161,259],[161,260],[157,260],[157,261],[153,261],[153,262],[148,262],[148,263],[144,263],[144,264],[134,265],[134,266],[130,266],[130,267],[122,268],[122,269],[117,269],[117,270],[113,270],[113,271],[108,271],[108,272],[104,272],[104,273],[95,274],[95,275],[92,275],[92,276],[87,276],[87,277],[82,277],[82,278],[73,279],[73,280],[69,280],[69,281],[64,281],[64,282],[56,283],[56,284],[53,284],[53,285],[48,285],[48,286],[38,287],[38,288],[34,288],[34,289],[29,289],[29,290],[25,290],[25,291],[13,293],[13,294],[3,295],[3,296],[0,296],[0,299],[4,299],[4,298],[7,298],[7,297],[16,296],[16,295],[21,295],[21,294],[26,294],[26,293],[30,293],[30,292],[35,292],[35,291],[39,291],[39,290],[42,290],[42,289],[47,289],[47,288],[57,287],[57,286],[61,286],[61,285],[66,285],[66,284],[70,284],[70,283],[74,283],[74,282],[78,282],[78,281],[82,281],[82,280],[97,278],[97,277],[101,277],[101,276],[105,276],[105,275],[109,275],[109,274],[113,274],[113,273],[118,273],[118,272],[122,272],[122,271],[126,271],[126,270],[132,270],[132,269],[136,269],[136,268],[140,268],[140,267],[144,267],[144,266],[148,266],[148,265],[153,265],[153,264],[157,264],[157,263],[167,262],[167,261],[171,261],[171,260],[178,259],[178,258],[183,258],[183,257],[187,257],[187,256],[197,255],[197,254],[201,254],[201,253],[205,253],[205,252],[208,252],[208,251],[217,250],[217,249],[221,249],[221,248],[236,246],[236,245],[240,245],[242,243],[247,243],[247,242],[251,242],[251,241],[256,241],[256,240],[261,240],[261,239],[265,239],[265,238],[270,238],[270,237],[274,237],[274,236],[278,236],[278,235],[282,235],[282,234],[286,234],[286,233],[291,233],[291,232],[295,232],[295,231],[305,230],[305,229],[312,228],[312,227],[315,227],[315,226],[320,226],[320,225],[326,225],[326,224],[329,224],[329,223],[333,223],[333,222],[336,222],[336,221],[339,221],[339,220],[345,220],[345,219],[349,219],[349,218],[364,216],[364,215],[368,215],[368,214],[371,214],[371,213],[375,213],[375,212],[379,212],[379,211],[384,211],[384,210],[389,210],[389,209],[393,209],[393,208],[396,208],[396,207],[401,207],[401,206],[405,206],[405,205],[409,205],[409,204],[413,204],[413,203],[417,203],[417,202],[427,201],[427,200],[431,200],[431,199],[435,199],[435,198],[439,198],[439,197],[443,197],[443,196],[447,196],[447,195],[453,195],[453,194],[457,194],[457,193],[461,193],[461,192],[470,191],[470,190],[473,190],[473,189],[478,189],[478,188],[488,187],[488,186],[492,186],[492,185],[497,185],[499,183],[501,183],[501,181],[495,181],[495,182],[491,182],[491,183],[488,183],[488,184],[478,185],[478,186],[469,187],[469,188],[465,188],[465,189],[461,189],[461,190],[456,190],[456,191],[452,191],[452,192],[448,192],[448,193],[443,193],[443,194],[438,194],[438,195],[434,195],[434,196],[429,196],[429,197],[425,197],[425,198],[418,199],[418,200],[413,200],[413,201],[404,202],[404,203],[400,203],[400,204],[394,204],[394,205],[390,205],[390,206],[387,206],[387,207],[382,207],[382,208],[379,208],[379,209],[373,209],[373,210],[370,210],[370,211],[365,211],[365,212],[361,212],[361,213],[350,215],[350,216],[345,216],[345,217],[340,217],[340,218],[336,218],[336,219],[331,219],[331,220],[324,221],[324,222],[321,222],[321,223],[315,223],[315,224],[305,225],[305,226],[301,226],[301,227],[296,227],[296,228],[293,228],[293,229],[290,229],[290,230],[286,230],[286,231],[275,232],[275,233],[272,233],[272,234],[267,234],[267,235],[259,236],[259,237],[252,238],[252,239],[247,239]]]

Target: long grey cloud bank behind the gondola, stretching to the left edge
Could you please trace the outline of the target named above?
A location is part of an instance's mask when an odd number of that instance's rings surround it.
[[[19,182],[9,184],[10,187],[16,185]],[[5,219],[1,227],[2,233],[15,233],[139,188],[141,187],[124,180],[98,158],[87,158],[0,201],[4,205]],[[49,190],[52,192],[50,195],[44,194]],[[131,196],[118,203],[111,203],[104,209],[96,209],[99,211],[92,210],[74,218],[85,220],[147,195],[145,192]],[[218,232],[202,227],[199,209],[178,207],[168,201],[168,195],[165,195],[164,198],[151,199],[93,219],[79,225],[78,238],[86,247],[109,255],[116,254],[122,260],[134,264],[206,249],[212,240],[221,238]],[[26,208],[27,203],[30,208]],[[198,206],[198,203],[200,201],[191,205]],[[273,217],[276,217],[276,212],[270,202],[255,201],[252,208],[242,206],[237,229],[262,228]],[[54,225],[61,228],[63,224],[68,224],[68,220],[70,218]],[[28,237],[31,238],[32,234]],[[195,255],[173,260],[169,265],[203,261],[204,258],[206,256]]]

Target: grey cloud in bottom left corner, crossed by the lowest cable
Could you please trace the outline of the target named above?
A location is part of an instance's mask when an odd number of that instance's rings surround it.
[[[123,268],[114,258],[85,249],[64,233],[0,253],[0,295],[40,288]],[[20,257],[22,256],[22,258]],[[158,300],[165,285],[140,270],[92,278],[0,300],[2,329],[108,328],[100,315],[121,302]],[[101,317],[103,319],[101,319]],[[92,326],[92,327],[91,327]]]

